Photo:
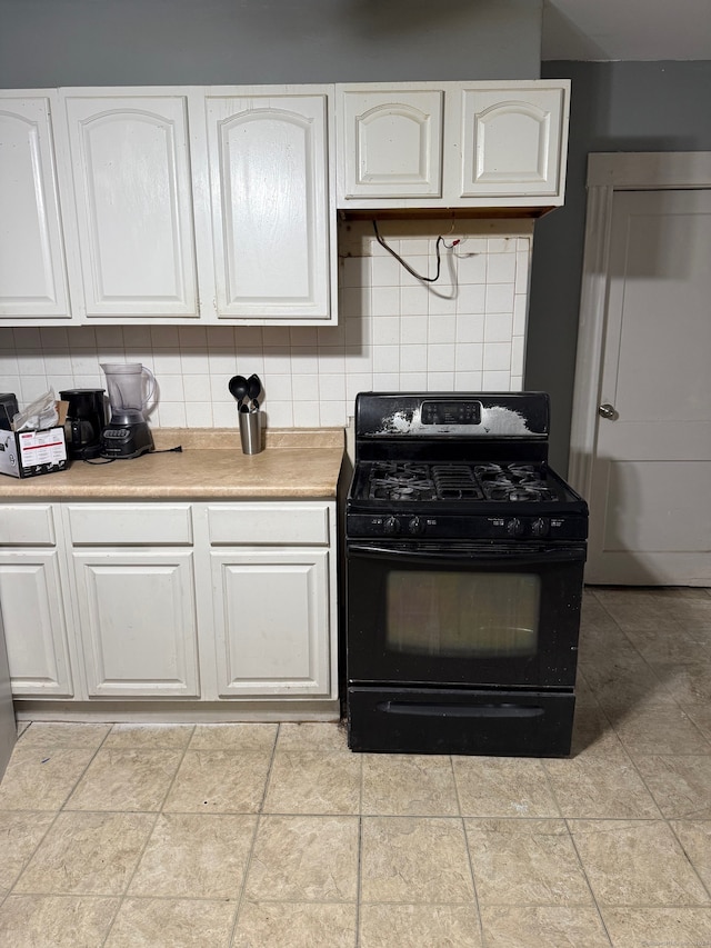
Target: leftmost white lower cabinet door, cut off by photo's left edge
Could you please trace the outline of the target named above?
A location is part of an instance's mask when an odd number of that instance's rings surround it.
[[[57,550],[0,552],[0,606],[12,693],[71,698]]]

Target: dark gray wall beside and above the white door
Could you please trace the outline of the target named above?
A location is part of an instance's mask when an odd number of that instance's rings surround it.
[[[544,62],[572,79],[565,206],[533,240],[525,386],[551,395],[551,462],[568,469],[591,151],[711,151],[711,62]],[[711,252],[711,248],[709,248]]]

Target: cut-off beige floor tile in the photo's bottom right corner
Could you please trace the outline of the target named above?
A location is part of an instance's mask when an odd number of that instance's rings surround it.
[[[614,948],[702,948],[711,945],[709,908],[603,908]]]

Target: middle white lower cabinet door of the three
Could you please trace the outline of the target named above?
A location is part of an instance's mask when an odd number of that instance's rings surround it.
[[[192,551],[72,559],[89,696],[198,697]]]

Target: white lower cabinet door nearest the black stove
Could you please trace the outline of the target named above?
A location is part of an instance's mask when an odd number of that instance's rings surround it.
[[[328,550],[211,557],[220,697],[328,696]]]

